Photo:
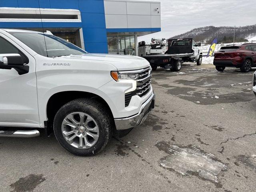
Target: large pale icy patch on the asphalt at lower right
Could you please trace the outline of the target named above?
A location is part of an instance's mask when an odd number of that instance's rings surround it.
[[[219,182],[218,174],[227,169],[227,166],[217,160],[214,155],[208,154],[195,146],[182,148],[166,142],[158,142],[156,147],[169,154],[160,160],[160,165],[184,176],[195,175],[216,184]]]

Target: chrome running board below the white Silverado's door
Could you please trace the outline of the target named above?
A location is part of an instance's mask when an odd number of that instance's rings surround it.
[[[37,137],[40,136],[40,132],[38,130],[16,130],[16,131],[2,131],[0,130],[0,137]]]

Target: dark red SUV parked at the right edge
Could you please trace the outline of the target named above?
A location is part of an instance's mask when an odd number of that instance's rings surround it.
[[[256,43],[222,47],[214,54],[213,64],[218,71],[236,67],[242,72],[249,72],[252,67],[256,67]]]

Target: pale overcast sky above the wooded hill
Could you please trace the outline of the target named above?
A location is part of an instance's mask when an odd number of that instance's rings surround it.
[[[161,2],[162,31],[138,38],[170,38],[204,26],[256,24],[256,0],[147,0]]]

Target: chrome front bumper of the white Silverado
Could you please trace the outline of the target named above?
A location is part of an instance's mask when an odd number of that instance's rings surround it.
[[[138,114],[128,118],[114,119],[116,130],[126,130],[142,124],[148,117],[150,111],[154,108],[155,97],[156,96],[153,93],[150,98],[148,98],[148,100],[142,104]]]

